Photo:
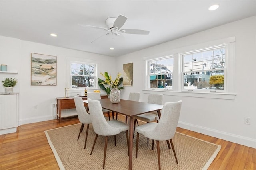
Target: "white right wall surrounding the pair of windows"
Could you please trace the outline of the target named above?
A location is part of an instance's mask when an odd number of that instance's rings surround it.
[[[256,148],[256,16],[118,57],[117,70],[122,70],[123,64],[134,64],[134,84],[121,91],[122,98],[127,99],[129,92],[140,92],[140,101],[146,102],[148,93],[162,93],[144,91],[143,57],[163,57],[161,53],[172,49],[233,36],[236,37],[234,100],[174,96],[172,92],[164,92],[164,102],[183,101],[179,127]],[[244,124],[244,117],[251,118],[251,125]]]

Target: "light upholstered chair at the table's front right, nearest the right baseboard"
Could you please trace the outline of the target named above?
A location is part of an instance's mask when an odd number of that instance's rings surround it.
[[[137,126],[135,131],[137,132],[137,140],[136,140],[136,158],[138,156],[138,143],[139,143],[139,134],[144,135],[145,137],[152,139],[154,148],[154,140],[156,140],[157,145],[157,156],[158,156],[158,168],[161,170],[161,162],[160,162],[160,147],[159,141],[167,141],[168,148],[170,148],[169,140],[172,145],[172,150],[176,159],[176,163],[178,164],[178,160],[176,157],[176,153],[174,150],[174,145],[172,143],[172,138],[174,137],[179,117],[180,117],[180,109],[181,109],[182,101],[178,102],[167,102],[164,104],[161,119],[158,123],[151,122],[146,123],[144,125]]]

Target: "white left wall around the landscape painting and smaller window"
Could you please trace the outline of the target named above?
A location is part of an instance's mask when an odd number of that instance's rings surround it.
[[[29,41],[22,41],[10,37],[0,36],[0,64],[7,64],[8,70],[18,71],[18,74],[0,73],[0,80],[5,77],[15,77],[18,84],[14,91],[19,92],[19,124],[34,123],[53,119],[52,104],[56,97],[64,97],[66,78],[66,58],[84,58],[98,63],[100,72],[116,73],[115,58],[86,53],[71,49],[54,47]],[[31,53],[57,56],[57,85],[31,86]],[[106,64],[108,63],[108,64]],[[103,77],[101,77],[103,78]],[[74,96],[83,90],[70,90],[69,96]],[[0,92],[4,92],[1,86]],[[90,90],[88,90],[90,92]],[[73,94],[73,95],[72,95]],[[104,92],[102,92],[104,94]],[[37,109],[34,109],[37,106]]]

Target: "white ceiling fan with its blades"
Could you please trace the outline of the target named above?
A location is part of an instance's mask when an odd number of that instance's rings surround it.
[[[110,31],[106,35],[109,35],[110,33],[112,33],[113,36],[114,35],[119,36],[120,33],[141,34],[141,35],[148,35],[149,34],[149,31],[141,30],[141,29],[121,29],[121,27],[124,25],[126,20],[127,20],[127,17],[123,16],[123,15],[119,15],[118,18],[115,18],[115,17],[107,18],[106,19],[106,25],[108,26],[108,28],[96,27],[96,26],[92,26],[92,25],[83,25],[83,24],[78,24],[78,25],[80,25],[82,27],[91,27],[91,28],[96,28],[96,29],[104,29],[106,31]],[[102,35],[102,36],[104,36],[104,35]],[[100,37],[98,37],[97,39],[99,39],[99,38]],[[95,39],[95,40],[97,40],[97,39]],[[92,41],[91,43],[93,43],[94,41]]]

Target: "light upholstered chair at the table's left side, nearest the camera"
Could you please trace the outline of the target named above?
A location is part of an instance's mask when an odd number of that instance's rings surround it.
[[[114,135],[115,146],[116,146],[116,135],[119,134],[120,132],[125,131],[128,155],[129,155],[129,137],[128,137],[129,125],[115,119],[106,121],[104,119],[101,104],[98,100],[91,100],[89,98],[88,107],[90,109],[90,115],[92,116],[92,127],[94,132],[96,133],[94,143],[92,146],[92,151],[94,149],[98,135],[105,136],[105,148],[104,148],[104,159],[103,159],[103,169],[104,169],[105,160],[106,160],[106,151],[107,151],[107,145],[108,145],[108,136]],[[91,151],[91,154],[92,154],[92,151]]]

